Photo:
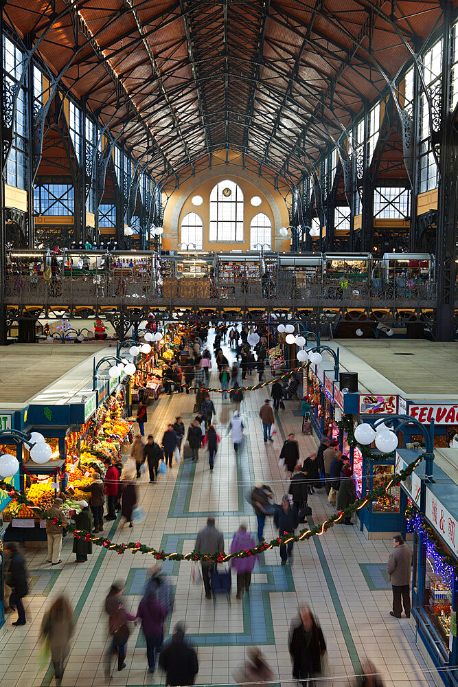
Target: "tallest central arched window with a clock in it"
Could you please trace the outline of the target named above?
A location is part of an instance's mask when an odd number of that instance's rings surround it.
[[[220,181],[211,191],[209,240],[243,240],[243,192],[230,179]]]

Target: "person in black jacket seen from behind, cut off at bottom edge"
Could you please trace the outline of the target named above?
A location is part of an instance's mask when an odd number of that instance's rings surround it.
[[[193,685],[198,673],[197,654],[185,642],[185,630],[176,625],[172,641],[159,656],[159,667],[165,671],[165,684],[170,687]]]

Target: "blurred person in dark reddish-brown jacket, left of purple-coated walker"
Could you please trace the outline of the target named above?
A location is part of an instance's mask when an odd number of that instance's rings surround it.
[[[108,613],[108,631],[112,638],[105,657],[106,679],[110,678],[111,657],[113,654],[117,653],[118,671],[122,671],[126,667],[124,661],[127,653],[127,642],[130,636],[128,621],[135,620],[135,616],[131,616],[124,608],[122,592],[124,592],[124,585],[117,582],[111,585],[105,599],[105,611]]]

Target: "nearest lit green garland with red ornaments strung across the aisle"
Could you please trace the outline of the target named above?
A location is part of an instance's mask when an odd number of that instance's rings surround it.
[[[350,506],[347,506],[347,508],[339,510],[339,513],[334,513],[334,515],[329,517],[320,525],[316,525],[312,527],[310,530],[301,530],[299,534],[285,534],[283,537],[276,537],[276,539],[272,539],[270,542],[263,541],[262,543],[258,544],[257,546],[251,549],[242,549],[231,554],[226,554],[224,551],[216,552],[214,554],[203,554],[201,553],[201,551],[191,551],[187,554],[180,554],[178,552],[168,554],[163,550],[154,549],[150,546],[147,546],[146,544],[140,543],[139,541],[130,541],[126,544],[115,544],[112,541],[110,541],[110,539],[105,539],[104,537],[93,537],[91,532],[87,532],[86,530],[78,530],[78,528],[76,528],[76,525],[69,525],[68,529],[71,532],[73,532],[73,537],[75,537],[76,539],[84,539],[84,541],[91,541],[95,545],[104,546],[104,548],[116,551],[118,554],[124,554],[125,551],[130,550],[133,553],[140,552],[142,554],[152,554],[154,558],[158,561],[209,561],[212,563],[223,563],[225,561],[230,561],[234,558],[247,558],[249,556],[256,556],[257,554],[260,554],[268,549],[284,545],[290,541],[303,541],[306,539],[311,539],[311,537],[315,537],[317,535],[320,536],[321,534],[324,534],[326,530],[333,527],[334,524],[339,523],[341,519],[345,517],[351,517],[361,508],[364,508],[368,504],[371,504],[374,501],[376,501],[376,499],[384,495],[388,491],[388,489],[391,486],[393,486],[393,484],[397,485],[400,484],[400,482],[406,480],[407,477],[409,477],[409,475],[413,473],[413,470],[420,462],[420,460],[422,460],[421,457],[417,458],[414,462],[410,463],[400,473],[397,473],[396,475],[393,475],[389,479],[385,480],[385,484],[380,484],[376,488],[371,489],[371,491],[367,493],[367,496],[357,499],[356,502],[354,502],[354,504],[350,504]],[[51,519],[53,521],[57,521],[57,519],[54,518],[54,516],[48,515],[45,511],[41,510],[41,508],[35,506],[33,502],[30,502],[25,495],[21,494],[19,491],[16,491],[16,489],[12,489],[11,485],[8,484],[8,482],[1,481],[0,489],[2,489],[3,491],[7,491],[8,496],[12,497],[12,499],[14,499],[16,502],[32,506],[36,512],[37,518],[42,520]]]

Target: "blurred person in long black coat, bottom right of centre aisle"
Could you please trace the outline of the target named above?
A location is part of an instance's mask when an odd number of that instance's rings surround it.
[[[299,623],[290,632],[289,651],[293,659],[293,677],[301,680],[304,687],[314,687],[314,677],[321,675],[326,642],[306,604],[299,607]]]

